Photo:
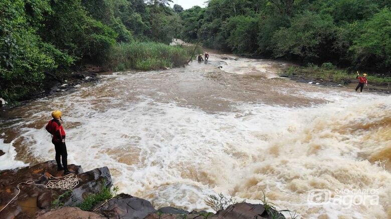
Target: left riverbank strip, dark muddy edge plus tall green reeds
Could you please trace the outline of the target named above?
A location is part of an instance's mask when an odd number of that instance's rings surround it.
[[[3,98],[10,103],[8,106],[14,106],[55,92],[70,90],[80,83],[97,80],[101,73],[184,67],[194,52],[200,53],[200,48],[194,50],[193,46],[167,45],[158,42],[119,43],[109,49],[105,60],[99,64],[83,64],[54,73],[46,72],[44,79],[29,88],[30,92],[22,95],[15,94],[14,96],[18,96],[15,99],[7,99],[7,95]]]

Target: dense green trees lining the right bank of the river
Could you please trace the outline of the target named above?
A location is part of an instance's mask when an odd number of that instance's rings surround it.
[[[213,48],[389,71],[389,0],[209,0],[180,12],[181,38]]]

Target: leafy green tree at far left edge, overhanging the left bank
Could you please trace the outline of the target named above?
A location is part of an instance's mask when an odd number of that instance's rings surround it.
[[[52,13],[49,0],[0,1],[0,96],[19,99],[35,90],[45,71],[68,65],[73,58],[43,42],[39,27],[45,13]]]

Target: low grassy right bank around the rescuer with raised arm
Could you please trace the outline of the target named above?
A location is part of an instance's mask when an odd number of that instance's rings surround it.
[[[331,63],[322,66],[311,64],[309,66],[290,66],[279,72],[282,77],[303,83],[311,83],[325,86],[355,86],[357,74],[349,73],[345,69],[337,69]],[[368,86],[364,89],[370,91],[391,92],[391,77],[382,75],[368,75]],[[354,85],[353,85],[354,84]]]

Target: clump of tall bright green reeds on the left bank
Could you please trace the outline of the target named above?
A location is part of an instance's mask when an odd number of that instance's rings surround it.
[[[187,64],[193,48],[158,42],[119,43],[107,54],[106,65],[113,70],[152,70]]]

